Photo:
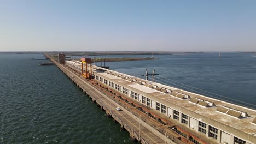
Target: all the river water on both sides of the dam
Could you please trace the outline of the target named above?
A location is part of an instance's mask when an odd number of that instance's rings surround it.
[[[255,55],[154,57],[159,59],[106,65],[143,79],[145,68],[150,74],[155,67],[157,82],[256,108]],[[48,61],[30,58],[44,56],[0,54],[0,143],[132,143],[129,133],[120,131],[120,125],[107,118],[57,67],[39,66]]]

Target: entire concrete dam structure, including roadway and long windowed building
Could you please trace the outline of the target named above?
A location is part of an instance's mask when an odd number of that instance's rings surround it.
[[[196,144],[256,141],[255,110],[95,65],[91,79],[85,79],[80,76],[83,63],[79,61],[56,65],[106,111],[107,117],[120,123],[121,130],[129,131],[132,140]]]

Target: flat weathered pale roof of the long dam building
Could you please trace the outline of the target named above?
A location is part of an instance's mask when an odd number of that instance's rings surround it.
[[[70,61],[67,61],[67,62],[70,62]],[[74,63],[74,62],[73,62],[73,64],[77,65],[77,63]],[[80,64],[78,64],[78,65],[80,65]],[[107,73],[104,73],[102,71],[100,73],[97,73],[98,75],[108,77],[109,79],[113,80],[113,82],[123,83],[124,85],[127,85],[129,87],[137,89],[138,91],[141,91],[143,93],[147,93],[147,94],[151,95],[152,97],[162,99],[165,102],[167,102],[169,105],[172,104],[172,105],[176,105],[176,106],[179,106],[179,107],[183,107],[184,109],[187,109],[191,112],[195,112],[195,113],[198,113],[199,115],[202,115],[202,116],[205,116],[205,117],[208,117],[208,118],[211,118],[211,119],[215,119],[220,123],[229,125],[230,127],[233,127],[233,128],[238,129],[238,130],[244,131],[245,133],[248,133],[248,134],[251,134],[251,135],[256,134],[256,124],[252,123],[253,119],[256,117],[256,110],[254,110],[254,109],[250,109],[250,108],[244,107],[244,106],[238,106],[238,105],[228,103],[226,101],[222,101],[222,100],[219,100],[219,99],[206,97],[204,95],[191,93],[191,92],[188,92],[188,91],[184,91],[182,89],[162,85],[160,83],[143,80],[143,79],[140,79],[138,77],[122,74],[122,73],[119,73],[119,72],[116,72],[116,71],[113,71],[113,70],[108,70],[108,69],[104,69],[104,68],[97,67],[97,66],[94,66],[94,68],[103,69],[103,70],[106,70],[106,71],[111,71],[112,73],[127,76],[129,78],[136,79],[136,80],[141,80],[141,81],[149,83],[151,85],[171,89],[173,91],[171,94],[179,92],[179,93],[187,94],[191,98],[199,98],[199,99],[203,99],[203,100],[206,100],[206,101],[210,101],[210,102],[214,103],[216,105],[216,107],[203,107],[203,106],[197,105],[195,103],[191,103],[189,101],[189,99],[179,99],[177,97],[172,96],[170,93],[162,93],[162,92],[157,91],[154,88],[149,88],[149,87],[146,87],[144,85],[139,85],[139,84],[137,84],[133,81],[128,81],[128,80],[122,79],[121,77],[118,77],[118,76],[107,74]],[[173,94],[173,95],[175,95],[175,94]],[[236,110],[247,112],[249,117],[238,119],[236,117],[232,117],[232,116],[226,115],[225,113],[221,113],[221,112],[216,111],[217,106],[222,107],[223,105],[228,106],[228,107],[232,107]],[[170,107],[170,106],[168,106],[168,107]],[[189,115],[189,113],[186,113],[186,115]]]

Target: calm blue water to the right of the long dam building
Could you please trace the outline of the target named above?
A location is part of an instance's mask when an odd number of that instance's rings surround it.
[[[151,57],[151,55],[135,57]],[[107,62],[106,65],[109,65],[110,69],[143,79],[145,77],[141,75],[146,73],[145,68],[148,69],[148,73],[152,73],[155,67],[155,73],[159,74],[155,76],[156,82],[256,108],[256,55],[224,52],[220,53],[219,58],[219,53],[212,52],[154,55],[154,57],[159,59]]]

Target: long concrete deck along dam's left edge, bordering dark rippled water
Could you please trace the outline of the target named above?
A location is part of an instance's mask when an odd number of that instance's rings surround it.
[[[172,141],[166,141],[165,137],[158,134],[158,131],[148,129],[146,123],[142,123],[135,115],[125,110],[123,106],[115,103],[115,101],[102,94],[98,89],[92,87],[88,81],[83,79],[83,77],[75,75],[75,73],[65,66],[55,62],[54,59],[51,59],[51,61],[53,61],[56,66],[71,79],[71,81],[80,87],[88,97],[92,98],[92,101],[100,105],[101,109],[106,111],[107,117],[112,116],[116,122],[121,124],[121,129],[129,131],[133,140],[140,140],[141,143],[174,143]],[[75,77],[72,77],[72,75],[75,75]],[[115,110],[116,107],[120,107],[122,111]]]

